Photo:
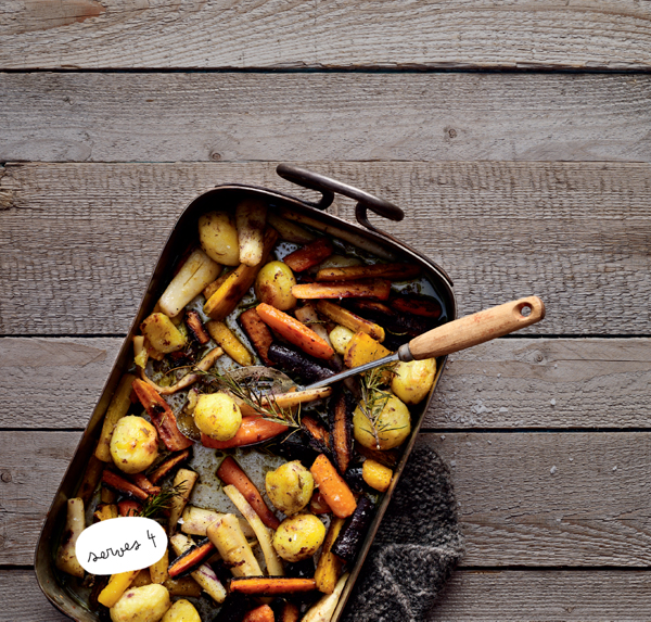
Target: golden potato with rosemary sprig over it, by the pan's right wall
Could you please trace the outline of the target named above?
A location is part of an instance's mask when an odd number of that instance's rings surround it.
[[[353,414],[353,434],[358,443],[370,449],[393,449],[403,444],[411,432],[409,408],[392,395],[378,417],[375,429],[380,440],[379,446],[371,422],[358,406]]]

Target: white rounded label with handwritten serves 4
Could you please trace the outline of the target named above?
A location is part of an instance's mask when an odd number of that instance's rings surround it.
[[[167,534],[152,519],[119,517],[86,528],[75,554],[91,574],[117,574],[156,563],[167,550]]]

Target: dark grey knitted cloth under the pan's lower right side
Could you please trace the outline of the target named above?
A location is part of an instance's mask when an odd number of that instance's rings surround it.
[[[463,553],[450,474],[417,444],[344,614],[344,622],[422,622]]]

